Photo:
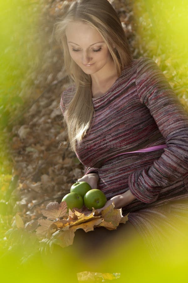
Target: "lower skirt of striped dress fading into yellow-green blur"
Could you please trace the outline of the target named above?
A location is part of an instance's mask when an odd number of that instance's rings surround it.
[[[128,220],[142,237],[152,258],[159,256],[169,241],[186,241],[188,199],[141,209],[128,214]]]

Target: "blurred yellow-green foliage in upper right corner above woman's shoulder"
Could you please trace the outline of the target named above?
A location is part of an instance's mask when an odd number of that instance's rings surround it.
[[[139,0],[133,4],[134,47],[164,72],[188,112],[188,1]]]

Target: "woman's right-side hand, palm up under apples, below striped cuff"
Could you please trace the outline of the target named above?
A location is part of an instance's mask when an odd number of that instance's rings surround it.
[[[128,205],[129,203],[132,203],[133,200],[135,199],[136,197],[132,194],[130,190],[128,190],[121,195],[112,197],[105,203],[105,205],[102,208],[96,209],[96,211],[101,212],[102,210],[110,206],[112,203],[114,203],[114,208],[122,208]]]

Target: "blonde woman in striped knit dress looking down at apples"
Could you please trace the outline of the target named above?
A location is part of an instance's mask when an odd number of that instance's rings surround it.
[[[181,216],[187,219],[187,113],[157,64],[132,58],[107,0],[71,3],[56,37],[70,77],[60,107],[85,166],[78,181],[98,186],[105,207],[114,202],[129,213],[126,230],[157,249],[167,226],[176,233]],[[96,230],[90,234],[97,239]]]

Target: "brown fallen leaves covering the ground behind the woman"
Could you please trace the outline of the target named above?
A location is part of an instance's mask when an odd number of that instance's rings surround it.
[[[131,45],[134,39],[131,1],[111,3],[124,23]],[[17,199],[13,215],[19,213],[24,224],[41,217],[40,210],[49,202],[60,203],[76,179],[84,175],[83,165],[70,150],[60,110],[61,93],[67,86],[66,72],[61,65],[60,47],[52,42],[51,35],[56,17],[62,14],[62,6],[63,2],[56,0],[44,7],[41,29],[49,44],[41,72],[35,71],[34,97],[38,89],[42,94],[27,107],[27,111],[24,110],[22,119],[16,121],[15,118],[10,133],[13,175],[18,175],[17,186],[11,195],[13,204]]]

